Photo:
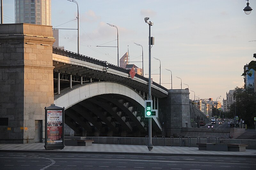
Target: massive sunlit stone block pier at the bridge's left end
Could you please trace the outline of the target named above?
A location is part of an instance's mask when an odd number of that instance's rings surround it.
[[[52,26],[0,25],[0,118],[8,119],[0,142],[33,143],[35,121],[44,125],[44,107],[53,103],[54,41]]]

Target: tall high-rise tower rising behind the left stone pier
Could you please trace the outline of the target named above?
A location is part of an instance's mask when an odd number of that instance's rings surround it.
[[[14,0],[15,23],[51,25],[51,0]]]

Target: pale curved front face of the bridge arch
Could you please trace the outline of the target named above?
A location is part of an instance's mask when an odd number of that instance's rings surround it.
[[[83,100],[103,94],[118,94],[127,96],[144,107],[144,98],[132,88],[116,82],[101,81],[84,84],[54,100],[54,104],[59,107],[69,107]]]

